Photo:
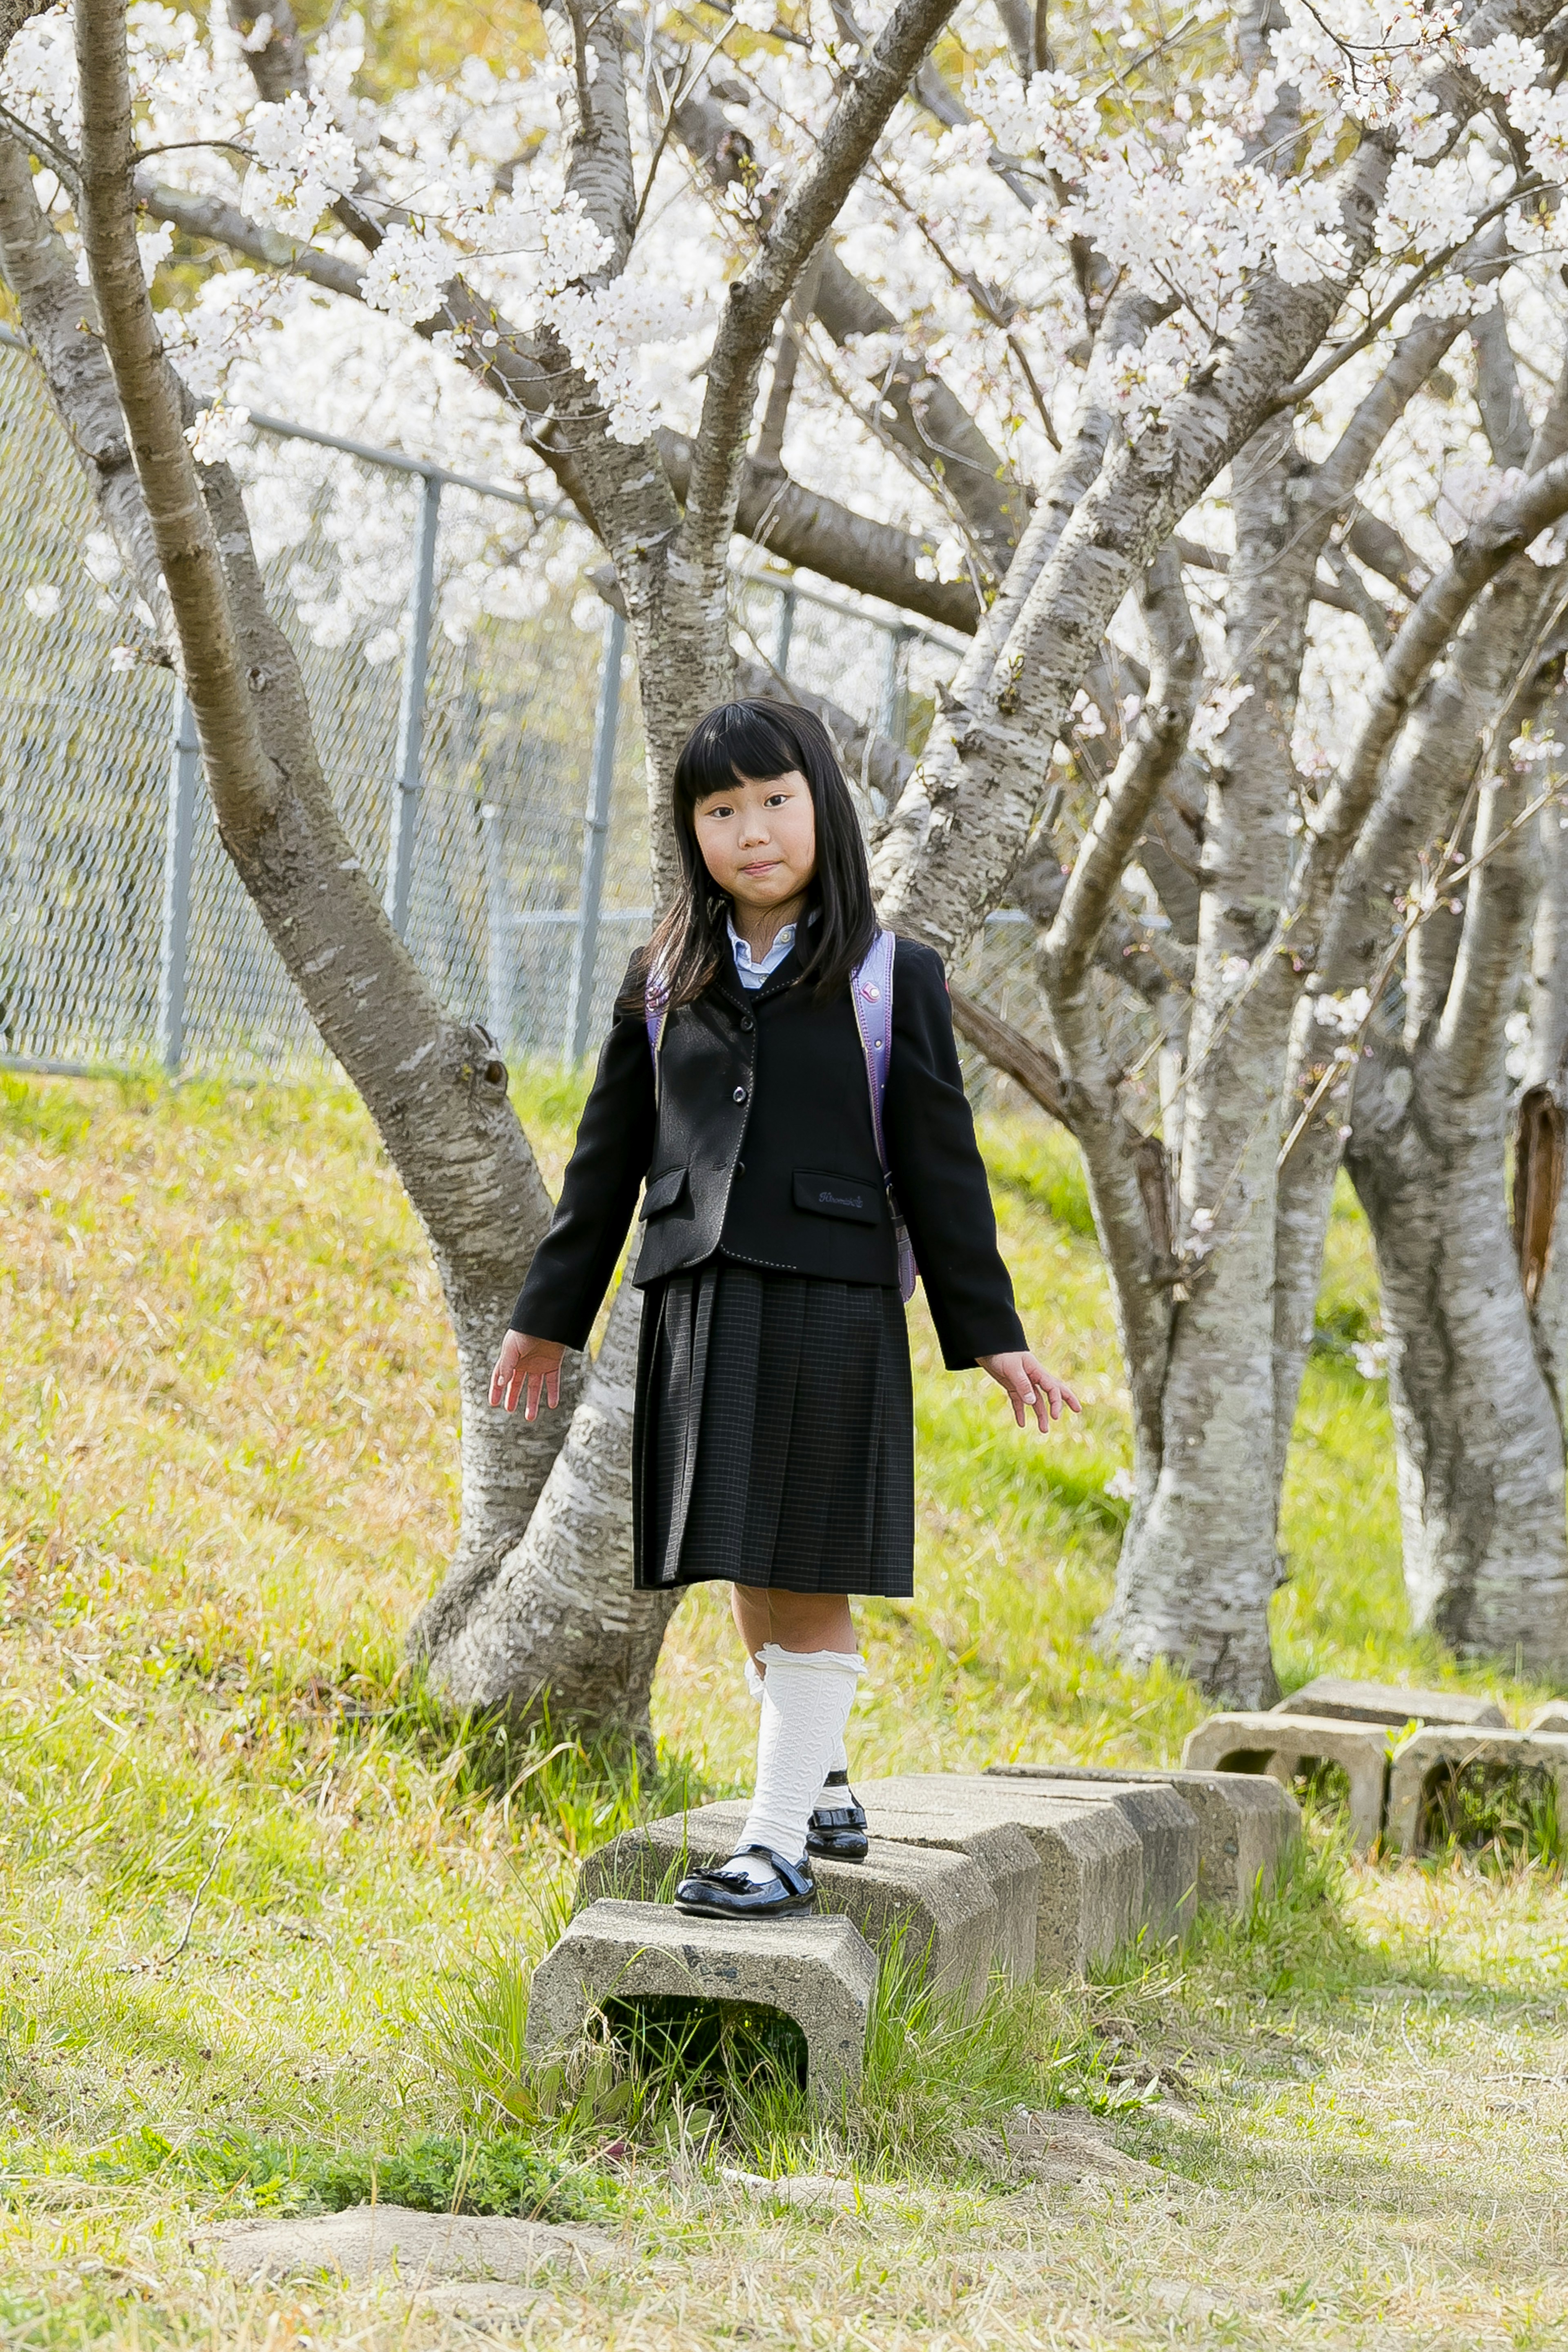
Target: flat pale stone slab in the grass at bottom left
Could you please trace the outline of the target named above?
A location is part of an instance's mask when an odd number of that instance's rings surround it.
[[[261,2284],[334,2272],[355,2286],[397,2279],[498,2279],[527,2284],[562,2265],[585,2270],[614,2251],[602,2230],[562,2230],[491,2213],[416,2213],[411,2206],[350,2206],[310,2220],[230,2223],[214,2251],[233,2279]]]

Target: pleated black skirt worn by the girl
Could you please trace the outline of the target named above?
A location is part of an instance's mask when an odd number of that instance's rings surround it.
[[[637,1588],[914,1592],[903,1301],[710,1258],[649,1287],[632,1439]]]

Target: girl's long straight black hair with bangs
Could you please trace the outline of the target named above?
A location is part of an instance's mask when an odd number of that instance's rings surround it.
[[[816,809],[816,877],[811,913],[802,924],[802,978],[816,981],[816,995],[827,997],[849,983],[856,964],[877,938],[872,875],[856,804],[844,783],[839,755],[823,722],[797,703],[719,703],[698,720],[675,762],[675,842],[682,861],[682,884],[665,920],[644,948],[632,983],[632,1007],[642,1009],[649,971],[658,971],[670,1007],[689,1004],[708,988],[729,955],[724,929],[729,898],[712,880],[696,844],[696,804],[736,781],[757,783],[797,769],[811,790]]]

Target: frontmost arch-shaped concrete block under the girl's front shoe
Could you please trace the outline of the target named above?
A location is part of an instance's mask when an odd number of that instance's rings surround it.
[[[571,2049],[604,2002],[679,1997],[778,2009],[806,2042],[806,2086],[860,2079],[877,1955],[849,1919],[689,1919],[670,1903],[590,1903],[529,1985],[536,2058]]]

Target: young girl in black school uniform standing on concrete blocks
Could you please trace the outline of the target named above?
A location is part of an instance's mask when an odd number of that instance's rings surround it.
[[[762,1698],[736,1853],[675,1900],[771,1917],[811,1907],[809,1853],[865,1856],[849,1595],[914,1590],[898,1214],[945,1364],[980,1364],[1018,1428],[1079,1402],[1013,1308],[940,957],[907,938],[872,955],[865,842],[827,729],[783,703],[712,710],[675,769],[675,835],[682,891],[632,960],[491,1404],[527,1395],[531,1421],[541,1390],[557,1402],[642,1188],[635,1576],[731,1581]]]

